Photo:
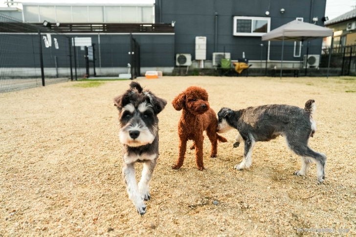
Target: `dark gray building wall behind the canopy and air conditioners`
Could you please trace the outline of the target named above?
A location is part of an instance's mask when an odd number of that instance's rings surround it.
[[[175,21],[175,53],[190,53],[195,59],[195,37],[207,37],[206,59],[212,60],[213,52],[231,53],[231,59],[237,60],[243,52],[250,60],[263,59],[267,56],[267,42],[261,37],[233,36],[234,16],[267,17],[269,11],[270,30],[273,30],[297,17],[304,22],[311,22],[318,17],[318,25],[323,25],[321,18],[325,14],[326,0],[156,0],[156,22]],[[280,9],[284,8],[282,14]],[[217,48],[215,49],[215,13],[218,18]],[[310,42],[309,54],[320,54],[322,40]],[[303,43],[301,57],[306,54],[306,42]],[[270,60],[281,59],[281,42],[270,43]],[[285,43],[285,60],[300,61],[293,57],[294,43]]]

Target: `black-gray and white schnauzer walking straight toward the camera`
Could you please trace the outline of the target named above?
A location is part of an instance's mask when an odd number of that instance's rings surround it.
[[[119,110],[119,137],[123,144],[122,174],[129,198],[140,215],[146,213],[145,201],[151,197],[149,182],[156,167],[158,151],[158,118],[167,102],[137,82],[114,99]],[[134,165],[143,162],[141,180],[136,184]]]

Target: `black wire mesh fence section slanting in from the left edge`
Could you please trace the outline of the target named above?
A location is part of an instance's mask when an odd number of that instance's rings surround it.
[[[71,39],[0,14],[0,92],[72,78]]]

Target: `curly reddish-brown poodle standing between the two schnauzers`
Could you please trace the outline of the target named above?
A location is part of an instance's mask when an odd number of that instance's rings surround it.
[[[198,86],[190,86],[181,92],[173,101],[172,105],[182,114],[178,123],[179,155],[177,164],[172,169],[179,169],[183,165],[184,154],[187,149],[187,141],[193,140],[190,149],[195,149],[195,158],[198,170],[204,170],[203,164],[203,131],[211,142],[210,157],[216,157],[218,140],[227,142],[226,138],[217,134],[218,119],[216,113],[208,103],[208,93]]]

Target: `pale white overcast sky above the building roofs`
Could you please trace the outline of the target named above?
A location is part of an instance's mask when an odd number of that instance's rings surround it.
[[[62,3],[98,3],[98,0],[15,0],[22,2],[62,2]],[[1,0],[0,0],[1,2]],[[101,0],[101,3],[153,3],[155,0]],[[329,20],[342,15],[356,6],[356,0],[326,0],[325,16]]]

